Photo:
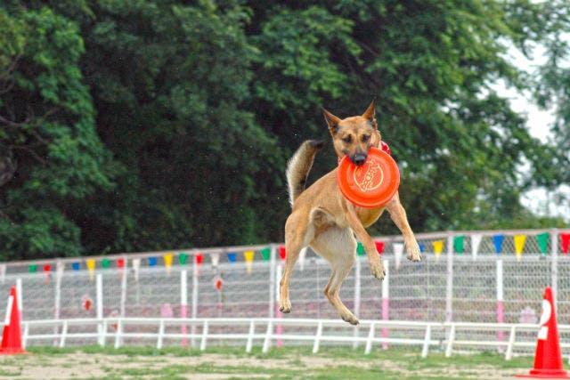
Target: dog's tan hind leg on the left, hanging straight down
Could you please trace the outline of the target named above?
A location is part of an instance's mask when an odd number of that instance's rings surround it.
[[[285,266],[283,267],[283,275],[279,283],[279,310],[281,312],[291,311],[291,301],[289,300],[289,281],[293,267],[297,262],[297,258],[301,249],[306,246],[306,235],[312,233],[312,226],[307,218],[300,214],[290,214],[285,223]]]

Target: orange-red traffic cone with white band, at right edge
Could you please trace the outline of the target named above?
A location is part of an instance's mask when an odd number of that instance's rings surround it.
[[[517,377],[570,379],[562,365],[562,352],[560,352],[558,325],[551,287],[544,289],[541,329],[536,341],[534,368],[530,370],[528,375],[517,375]]]

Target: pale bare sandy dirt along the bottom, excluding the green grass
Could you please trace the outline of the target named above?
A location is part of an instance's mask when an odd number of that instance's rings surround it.
[[[284,368],[297,374],[317,368],[336,368],[338,366],[354,367],[354,360],[339,360],[338,358],[323,358],[312,355],[294,355],[288,358],[233,357],[218,353],[205,353],[199,356],[129,356],[105,355],[101,353],[58,353],[38,354],[29,353],[16,357],[0,356],[0,379],[11,380],[63,380],[63,379],[155,379],[157,371],[163,371],[168,376],[168,370],[176,378],[191,380],[226,380],[230,378],[272,378],[275,369]],[[196,368],[213,366],[204,371]],[[382,360],[381,362],[358,363],[359,368],[379,367],[387,371],[402,373],[402,379],[407,376],[433,376],[433,369],[402,368],[401,363]],[[216,368],[243,368],[243,373],[232,370],[231,373],[216,372]],[[254,370],[255,369],[255,370]],[[441,378],[451,379],[487,379],[499,380],[513,378],[513,374],[525,373],[527,369],[497,369],[493,366],[474,363],[474,368],[468,373],[465,368],[449,366],[444,371],[438,371]],[[150,373],[155,375],[149,375]],[[200,373],[202,372],[202,373]],[[224,371],[221,371],[224,372]],[[163,377],[165,378],[165,377]],[[166,377],[167,378],[167,377]],[[418,377],[415,377],[418,378]]]

